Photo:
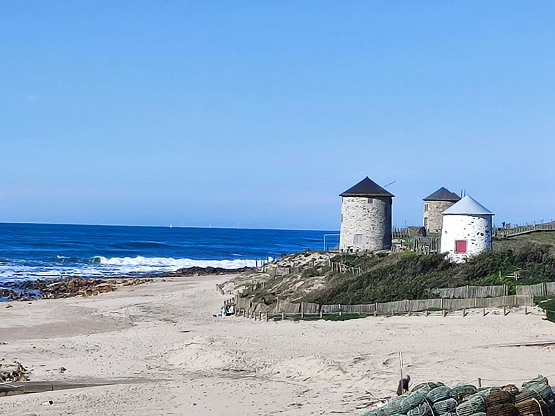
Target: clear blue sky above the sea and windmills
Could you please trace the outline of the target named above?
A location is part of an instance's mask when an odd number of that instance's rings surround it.
[[[0,221],[337,229],[364,176],[555,217],[552,1],[0,7]]]

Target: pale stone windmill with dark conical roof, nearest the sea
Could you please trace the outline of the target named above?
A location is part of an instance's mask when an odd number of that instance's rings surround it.
[[[341,251],[391,249],[393,194],[368,176],[341,195]]]

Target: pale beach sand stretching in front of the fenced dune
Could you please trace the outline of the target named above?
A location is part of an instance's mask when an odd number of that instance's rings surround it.
[[[397,388],[398,351],[413,383],[520,385],[555,374],[539,310],[346,322],[214,318],[230,276],[155,280],[89,298],[0,304],[0,358],[31,381],[117,382],[0,397],[12,415],[360,415]],[[60,371],[64,367],[65,371]],[[49,404],[48,401],[52,401]]]

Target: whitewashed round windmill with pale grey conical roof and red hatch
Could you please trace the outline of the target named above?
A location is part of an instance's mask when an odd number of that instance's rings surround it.
[[[461,263],[491,250],[493,213],[468,195],[443,211],[441,252]]]

